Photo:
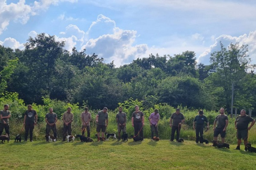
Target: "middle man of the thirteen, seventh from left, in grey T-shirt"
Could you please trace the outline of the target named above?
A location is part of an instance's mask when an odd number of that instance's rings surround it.
[[[121,131],[126,133],[126,113],[123,112],[123,107],[118,108],[118,113],[116,114],[116,122],[117,122],[117,131],[118,131],[118,140],[121,137]]]

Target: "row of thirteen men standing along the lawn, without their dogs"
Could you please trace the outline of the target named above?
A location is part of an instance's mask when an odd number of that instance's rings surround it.
[[[37,112],[32,109],[32,105],[27,106],[28,109],[25,112],[24,116],[24,127],[25,127],[25,138],[24,141],[27,141],[28,132],[30,132],[30,141],[33,141],[33,129],[34,125],[37,124],[38,116]],[[139,106],[136,105],[135,111],[132,113],[131,123],[134,128],[134,136],[139,135],[143,139],[143,126],[144,123],[144,114],[142,111],[139,110]],[[11,117],[11,112],[9,111],[9,105],[4,105],[4,109],[0,111],[0,135],[2,135],[3,129],[5,129],[5,133],[8,134],[10,137],[10,126],[9,126],[9,118]],[[158,121],[160,119],[160,115],[158,113],[158,109],[154,110],[149,117],[149,123],[151,127],[151,139],[153,140],[154,133],[156,137],[159,137],[158,134]],[[52,130],[54,137],[57,138],[57,114],[53,112],[53,108],[49,108],[49,113],[45,115],[45,122],[46,122],[46,129],[45,133],[49,134]],[[63,120],[63,141],[66,140],[66,135],[71,135],[72,127],[71,123],[73,121],[73,113],[71,112],[71,107],[67,108],[67,112],[63,113],[62,115]],[[90,137],[90,120],[91,114],[89,112],[88,107],[85,107],[85,111],[81,114],[81,122],[82,122],[82,135],[84,135],[85,131],[87,131],[87,137]],[[176,109],[176,112],[171,115],[170,118],[170,127],[171,127],[171,139],[170,141],[174,140],[174,134],[176,132],[176,141],[179,140],[180,137],[180,130],[181,125],[184,123],[185,118],[182,113],[180,113],[180,109]],[[117,130],[118,130],[118,140],[120,140],[121,131],[126,133],[126,122],[127,117],[126,113],[123,112],[123,108],[119,107],[119,112],[116,114],[116,122],[117,122]],[[248,127],[249,123],[251,125]],[[104,107],[103,110],[99,111],[96,115],[96,131],[98,141],[100,140],[100,132],[101,132],[101,139],[104,140],[104,133],[106,131],[106,127],[108,126],[108,108]],[[198,115],[195,117],[193,122],[193,129],[196,130],[196,143],[203,141],[203,128],[204,124],[207,123],[207,129],[209,129],[209,121],[207,117],[203,115],[203,111],[199,111]],[[254,125],[255,120],[250,116],[246,115],[246,111],[242,110],[240,115],[235,120],[235,127],[237,129],[237,148],[240,150],[240,145],[242,140],[244,140],[245,150],[246,150],[246,143],[248,138],[248,130],[252,128]],[[224,114],[224,108],[219,109],[219,115],[216,116],[214,123],[213,123],[213,131],[214,131],[214,140],[217,140],[218,135],[221,135],[222,143],[225,142],[225,135],[226,129],[228,126],[228,116]],[[49,138],[46,137],[46,141]]]

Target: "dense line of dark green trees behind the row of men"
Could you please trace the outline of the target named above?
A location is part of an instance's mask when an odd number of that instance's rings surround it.
[[[24,50],[0,45],[0,97],[17,93],[26,104],[42,98],[114,110],[120,102],[138,99],[145,108],[173,107],[217,110],[256,108],[256,75],[247,45],[230,44],[211,54],[210,65],[196,63],[196,54],[149,55],[116,68],[96,53],[65,50],[55,36],[29,37]],[[253,110],[253,113],[256,111]]]

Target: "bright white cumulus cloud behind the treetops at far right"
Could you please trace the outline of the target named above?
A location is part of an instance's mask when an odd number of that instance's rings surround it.
[[[239,43],[240,45],[248,45],[248,54],[252,59],[251,64],[256,64],[256,30],[250,32],[248,35],[243,34],[239,37],[230,35],[221,35],[215,39],[215,43],[210,46],[209,49],[205,50],[199,55],[197,62],[205,65],[210,64],[211,53],[214,51],[221,50],[220,41],[225,47],[228,47],[231,43]]]

